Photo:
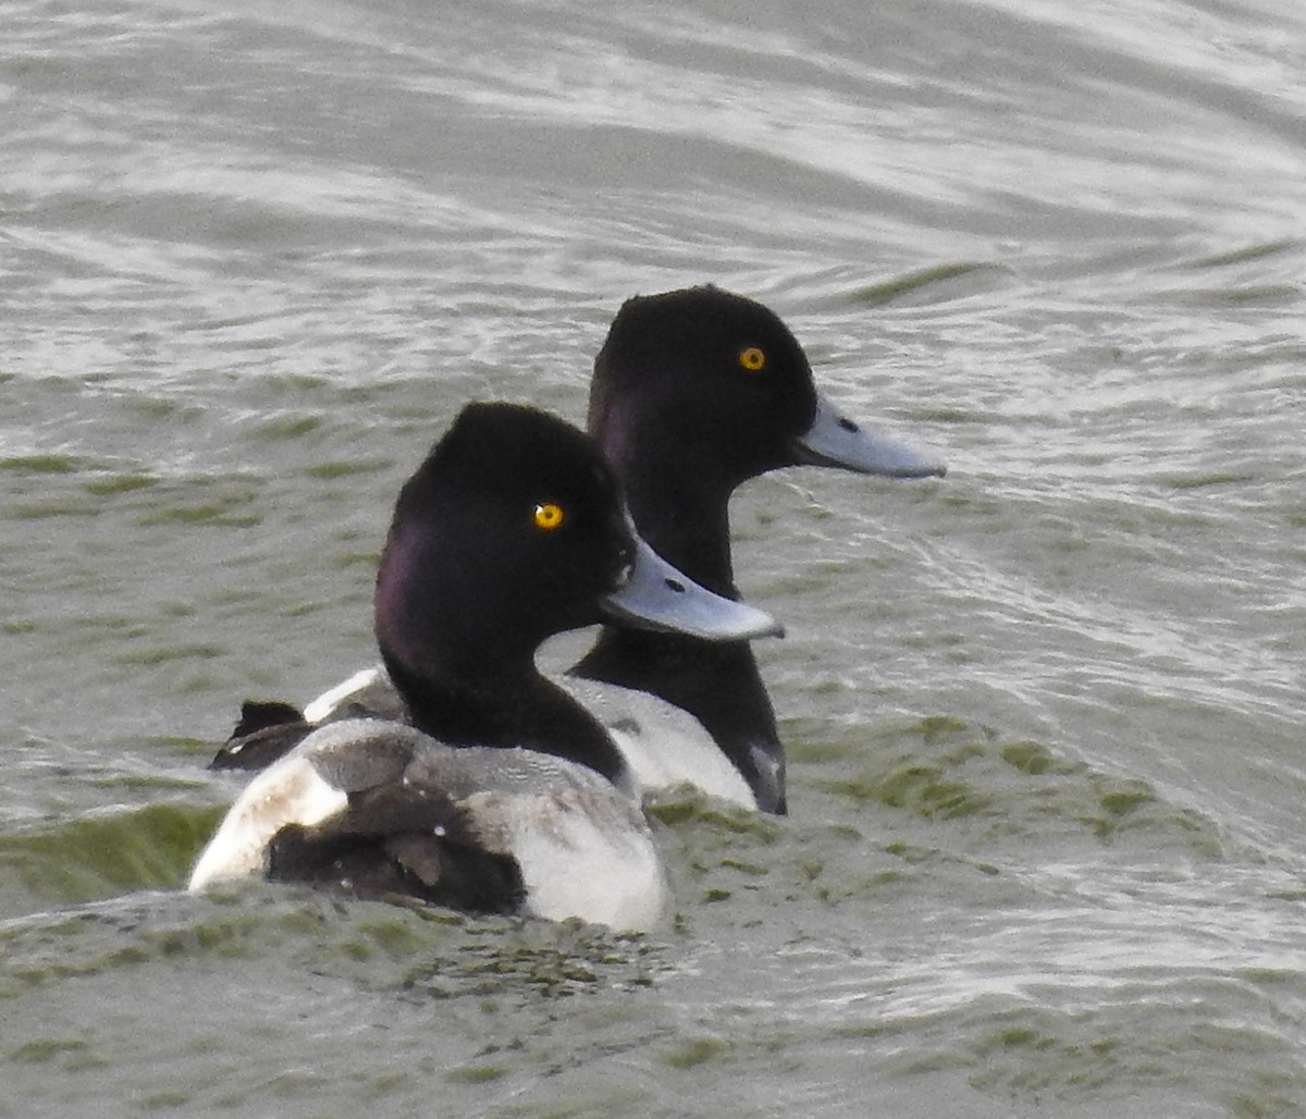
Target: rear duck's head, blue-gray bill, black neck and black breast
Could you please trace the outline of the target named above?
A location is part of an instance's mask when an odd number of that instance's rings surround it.
[[[729,507],[741,483],[803,464],[897,478],[944,473],[936,458],[845,418],[816,390],[780,317],[716,287],[627,300],[594,362],[588,428],[645,539],[730,598]],[[786,810],[784,746],[747,642],[712,646],[605,625],[572,672],[691,713],[756,806]]]

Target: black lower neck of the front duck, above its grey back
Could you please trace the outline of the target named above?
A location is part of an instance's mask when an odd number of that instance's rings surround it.
[[[577,761],[628,787],[629,774],[607,731],[535,670],[532,657],[474,666],[423,659],[419,666],[381,650],[413,725],[449,746],[525,747]]]

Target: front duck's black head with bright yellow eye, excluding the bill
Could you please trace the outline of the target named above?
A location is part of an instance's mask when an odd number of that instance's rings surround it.
[[[635,559],[593,443],[535,409],[473,403],[405,483],[376,580],[387,659],[474,674],[596,623]]]

